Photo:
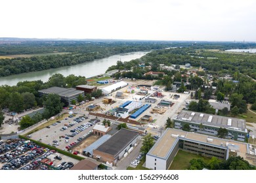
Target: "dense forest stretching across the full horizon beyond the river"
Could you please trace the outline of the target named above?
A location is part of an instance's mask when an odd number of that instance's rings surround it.
[[[68,52],[70,54],[33,56],[31,58],[0,59],[0,76],[16,75],[32,71],[42,71],[46,69],[58,68],[68,65],[93,61],[94,59],[106,58],[114,54],[127,52],[137,52],[142,50],[157,50],[167,47],[182,47],[160,52],[152,52],[146,56],[148,62],[163,59],[163,63],[184,64],[191,63],[194,66],[202,65],[207,69],[219,71],[223,69],[233,69],[238,67],[241,73],[256,77],[255,70],[243,69],[243,65],[254,66],[251,58],[247,58],[240,67],[240,58],[232,67],[226,65],[226,59],[221,58],[219,63],[205,58],[192,58],[190,55],[198,54],[196,50],[202,48],[211,49],[230,49],[230,48],[250,48],[256,46],[253,43],[232,43],[232,42],[168,42],[168,41],[21,41],[16,44],[1,44],[0,56],[14,54],[46,54]],[[200,52],[200,55],[207,54]],[[168,56],[167,56],[168,55]],[[253,58],[255,59],[255,57]],[[223,63],[221,62],[223,61]],[[211,62],[211,63],[209,63]],[[209,64],[208,64],[209,63]],[[128,65],[127,65],[128,66]],[[126,67],[125,67],[126,68]]]

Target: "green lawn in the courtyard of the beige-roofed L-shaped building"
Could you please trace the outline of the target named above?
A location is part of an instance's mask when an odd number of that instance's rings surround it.
[[[192,154],[184,150],[179,150],[175,158],[173,158],[173,163],[171,163],[171,167],[169,167],[169,170],[186,170],[190,166],[189,161],[194,158],[202,158],[205,163],[208,163],[211,159],[200,156],[198,154]]]

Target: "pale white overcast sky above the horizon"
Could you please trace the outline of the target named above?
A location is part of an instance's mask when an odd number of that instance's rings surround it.
[[[256,0],[1,0],[0,37],[256,41]]]

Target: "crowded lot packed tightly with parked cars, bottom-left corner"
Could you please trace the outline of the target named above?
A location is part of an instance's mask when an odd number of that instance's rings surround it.
[[[70,169],[79,161],[24,139],[1,142],[0,154],[3,170]]]

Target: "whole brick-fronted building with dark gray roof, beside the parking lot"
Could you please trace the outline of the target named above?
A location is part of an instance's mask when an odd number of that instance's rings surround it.
[[[137,131],[120,129],[108,141],[93,150],[93,158],[106,162],[107,165],[116,165],[119,159],[133,149],[139,139]]]

